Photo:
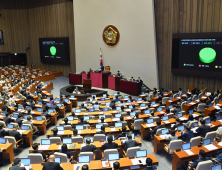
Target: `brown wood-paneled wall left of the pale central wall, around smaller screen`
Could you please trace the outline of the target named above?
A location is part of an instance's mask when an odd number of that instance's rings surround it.
[[[13,4],[14,2],[14,4]],[[25,53],[28,64],[36,64],[64,75],[76,71],[73,2],[70,0],[9,0],[1,4],[0,30],[3,30],[5,45],[0,52]],[[42,64],[39,38],[69,37],[70,66]]]

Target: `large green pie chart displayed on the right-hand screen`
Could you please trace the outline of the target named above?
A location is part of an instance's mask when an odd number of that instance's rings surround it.
[[[216,59],[216,51],[213,48],[206,47],[199,52],[200,60],[204,63],[212,63]]]

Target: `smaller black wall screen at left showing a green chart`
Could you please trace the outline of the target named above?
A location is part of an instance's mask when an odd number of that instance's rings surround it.
[[[39,38],[42,63],[70,65],[69,38]]]

